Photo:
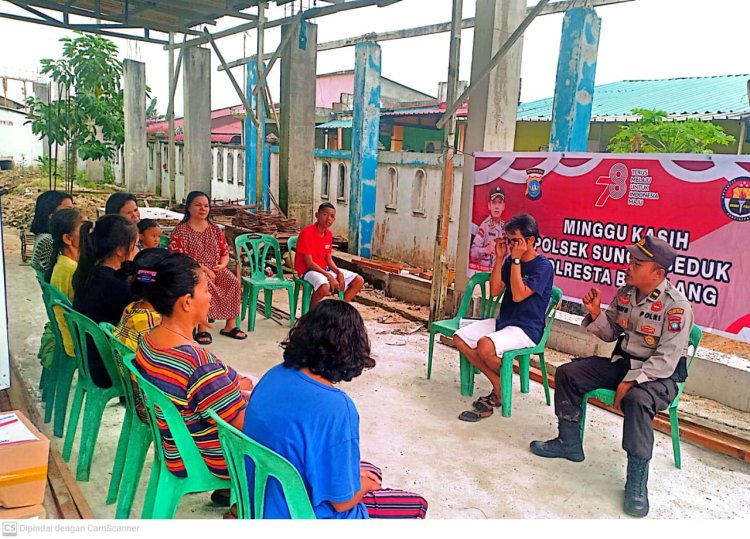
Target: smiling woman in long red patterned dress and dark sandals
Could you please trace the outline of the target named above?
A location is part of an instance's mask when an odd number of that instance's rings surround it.
[[[169,250],[185,253],[200,264],[211,292],[208,316],[214,320],[226,320],[219,333],[233,339],[245,339],[247,335],[237,327],[236,321],[242,304],[242,286],[227,269],[229,245],[221,228],[211,222],[210,211],[208,195],[191,192],[185,201],[185,217],[169,238]],[[211,344],[208,328],[208,321],[198,324],[195,340],[200,344]]]

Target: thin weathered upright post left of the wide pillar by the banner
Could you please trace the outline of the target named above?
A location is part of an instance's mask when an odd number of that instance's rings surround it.
[[[448,103],[453,102],[458,93],[459,66],[461,61],[461,18],[463,0],[453,0],[453,17],[451,44],[448,60]],[[453,199],[453,157],[455,155],[456,115],[451,114],[445,130],[443,148],[443,181],[440,186],[442,206],[438,218],[438,230],[435,237],[435,250],[432,264],[432,287],[430,289],[430,323],[441,320],[445,312],[445,300],[448,293],[448,231]]]

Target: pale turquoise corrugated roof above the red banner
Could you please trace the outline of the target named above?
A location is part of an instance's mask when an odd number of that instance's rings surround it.
[[[594,89],[592,116],[599,121],[613,116],[631,119],[631,111],[641,108],[664,110],[675,119],[738,117],[750,112],[748,80],[750,75],[743,74],[602,84]],[[522,103],[518,119],[549,121],[552,99]]]

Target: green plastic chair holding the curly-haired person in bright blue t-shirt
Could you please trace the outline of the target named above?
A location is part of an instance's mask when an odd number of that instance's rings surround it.
[[[221,450],[227,461],[232,491],[237,499],[238,518],[256,520],[263,518],[263,505],[269,477],[273,477],[281,485],[289,515],[293,519],[315,518],[305,484],[291,462],[234,428],[213,410],[209,410],[208,414],[219,427]],[[247,480],[249,459],[255,465],[252,496]],[[253,503],[253,500],[256,503]]]

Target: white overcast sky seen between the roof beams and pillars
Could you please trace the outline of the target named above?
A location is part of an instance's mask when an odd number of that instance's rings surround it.
[[[536,1],[529,0],[530,5]],[[401,0],[384,8],[368,7],[321,17],[318,41],[332,41],[368,32],[384,32],[448,22],[452,0]],[[474,16],[475,2],[464,0],[464,18]],[[0,12],[21,13],[0,0]],[[750,73],[747,21],[750,0],[635,0],[597,9],[602,18],[596,83],[626,79],[654,79]],[[284,16],[284,9],[272,7],[269,18]],[[562,14],[538,17],[523,38],[521,100],[551,97],[562,29]],[[210,27],[216,31],[245,21],[224,18]],[[59,39],[70,32],[46,26],[0,18],[0,76],[31,74],[42,58],[59,58]],[[468,80],[471,71],[473,31],[462,34],[460,76]],[[146,81],[164,113],[168,102],[168,54],[160,45],[132,40],[114,40],[120,58],[146,63]],[[256,32],[238,34],[217,41],[223,56],[232,61],[255,50]],[[266,50],[280,41],[278,28],[266,32]],[[447,79],[449,34],[383,42],[382,74],[421,92],[437,95],[440,81]],[[212,52],[212,69],[219,65]],[[318,54],[318,73],[353,69],[354,48]],[[233,70],[242,77],[242,68]],[[278,67],[269,77],[275,100],[279,96]],[[2,92],[2,89],[0,89]],[[239,103],[228,77],[214,71],[211,80],[212,108]],[[20,83],[9,83],[10,98],[21,99]],[[178,86],[175,110],[182,113],[182,87]]]

